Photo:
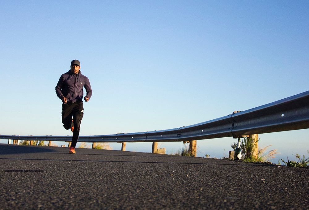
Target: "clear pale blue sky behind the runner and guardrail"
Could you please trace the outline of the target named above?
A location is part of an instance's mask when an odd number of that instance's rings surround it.
[[[308,1],[1,1],[0,14],[2,135],[71,135],[55,86],[73,59],[93,89],[80,135],[187,126],[308,90]],[[309,149],[308,129],[259,137]],[[198,141],[200,156],[233,141]]]

